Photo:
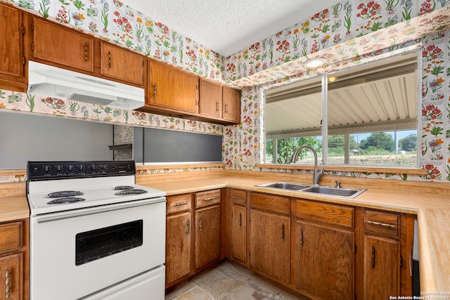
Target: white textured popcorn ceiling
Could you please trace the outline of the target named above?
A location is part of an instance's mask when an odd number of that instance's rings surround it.
[[[311,17],[338,0],[125,0],[156,22],[222,56]]]

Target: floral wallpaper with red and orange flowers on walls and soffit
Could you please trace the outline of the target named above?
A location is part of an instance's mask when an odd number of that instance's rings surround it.
[[[6,1],[6,0],[0,0]],[[223,133],[227,168],[259,170],[264,151],[262,91],[365,63],[409,46],[423,51],[423,168],[420,180],[450,181],[450,0],[345,0],[227,58],[119,0],[8,0],[31,13],[90,32],[143,55],[243,89],[241,124],[220,126],[139,111],[0,91],[0,108],[101,122]],[[327,65],[303,67],[321,56]],[[283,171],[283,170],[280,170]],[[344,174],[373,176],[372,174]],[[397,174],[383,178],[405,179]],[[411,178],[408,178],[411,179]],[[416,179],[416,178],[413,178]]]

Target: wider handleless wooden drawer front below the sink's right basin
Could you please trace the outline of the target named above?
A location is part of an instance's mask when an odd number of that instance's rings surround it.
[[[307,200],[295,201],[295,215],[353,228],[354,208]]]

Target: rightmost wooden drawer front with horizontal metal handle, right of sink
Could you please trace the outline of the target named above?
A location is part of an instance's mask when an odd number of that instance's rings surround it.
[[[399,214],[385,211],[364,211],[364,230],[399,237]]]

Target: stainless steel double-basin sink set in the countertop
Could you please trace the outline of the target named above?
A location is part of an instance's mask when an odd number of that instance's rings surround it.
[[[310,185],[306,183],[293,183],[285,181],[277,181],[274,183],[265,183],[255,186],[345,198],[354,198],[367,190],[366,188],[335,188],[327,185]]]

